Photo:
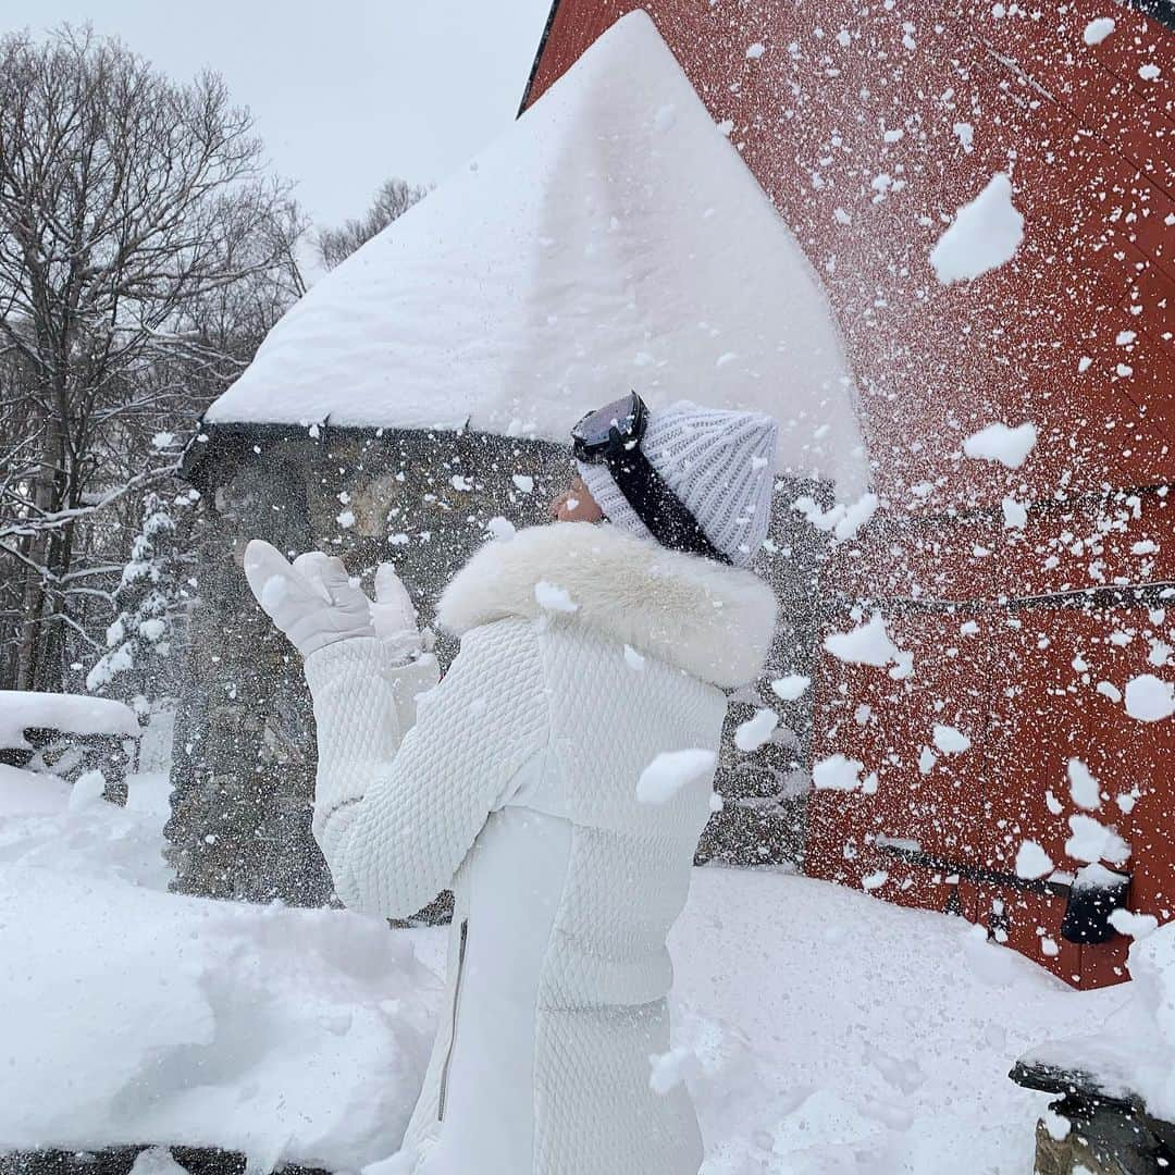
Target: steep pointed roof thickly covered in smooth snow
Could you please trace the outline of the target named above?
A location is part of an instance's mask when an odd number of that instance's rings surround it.
[[[820,282],[643,12],[318,281],[206,418],[564,439],[630,388],[771,412],[781,470],[868,481]]]

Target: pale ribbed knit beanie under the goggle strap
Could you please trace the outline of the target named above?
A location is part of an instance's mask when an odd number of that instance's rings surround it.
[[[778,432],[779,425],[760,412],[701,408],[686,400],[649,414],[640,451],[736,566],[745,568],[767,537]],[[576,464],[612,523],[653,537],[607,465]]]

